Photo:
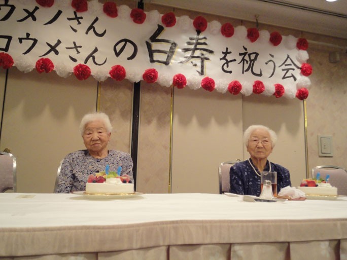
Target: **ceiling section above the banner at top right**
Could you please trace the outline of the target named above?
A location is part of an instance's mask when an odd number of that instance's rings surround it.
[[[150,0],[153,4],[216,14],[347,39],[347,0]]]

